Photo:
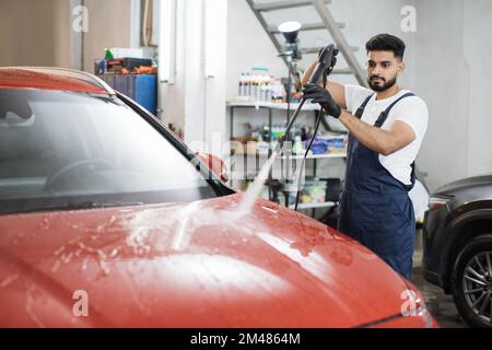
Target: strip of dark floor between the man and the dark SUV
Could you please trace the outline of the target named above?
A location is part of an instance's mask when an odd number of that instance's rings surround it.
[[[429,283],[423,278],[422,270],[422,232],[417,231],[415,252],[413,254],[412,282],[422,293],[430,313],[443,328],[468,327],[459,316],[452,295],[446,295],[443,290]]]

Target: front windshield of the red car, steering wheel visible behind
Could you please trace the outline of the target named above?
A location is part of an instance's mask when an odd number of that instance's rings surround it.
[[[0,90],[0,213],[216,195],[173,143],[117,96]]]

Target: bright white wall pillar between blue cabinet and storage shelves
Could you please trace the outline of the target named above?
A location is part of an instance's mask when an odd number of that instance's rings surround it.
[[[209,151],[222,155],[227,1],[214,0],[213,11],[204,7],[206,0],[177,1],[176,82],[161,83],[163,119],[184,132],[194,149],[203,150],[199,144],[204,142]],[[212,150],[216,133],[220,141]]]

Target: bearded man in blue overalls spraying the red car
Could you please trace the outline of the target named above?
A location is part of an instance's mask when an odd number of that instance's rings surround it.
[[[410,279],[415,219],[408,191],[429,113],[421,98],[397,83],[405,70],[405,43],[379,34],[366,50],[371,90],[330,81],[327,89],[307,84],[303,92],[350,131],[339,231]],[[303,84],[316,63],[306,70]]]

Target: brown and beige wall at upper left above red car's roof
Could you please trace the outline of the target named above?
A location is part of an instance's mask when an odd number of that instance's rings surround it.
[[[0,0],[0,66],[70,68],[70,0]],[[130,0],[84,0],[84,70],[106,47],[130,45]]]

